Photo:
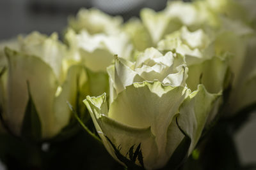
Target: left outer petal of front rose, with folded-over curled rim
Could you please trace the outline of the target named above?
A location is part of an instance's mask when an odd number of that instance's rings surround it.
[[[113,148],[104,135],[108,136],[116,147],[122,147],[122,150],[120,150],[122,155],[126,155],[131,146],[135,145],[136,147],[141,143],[141,152],[143,154],[145,167],[150,168],[154,166],[157,157],[157,146],[155,137],[150,131],[150,127],[131,127],[106,117],[106,115],[104,115],[108,112],[106,94],[97,98],[88,96],[86,97],[86,100],[84,100],[84,104],[86,104],[90,111],[93,123],[95,124],[106,149],[116,160],[118,159],[113,152]]]

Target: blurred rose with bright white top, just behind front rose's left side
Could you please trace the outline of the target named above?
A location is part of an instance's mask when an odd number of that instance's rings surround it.
[[[124,33],[90,35],[86,31],[80,34],[69,32],[66,36],[67,41],[70,41],[72,48],[79,51],[79,57],[91,71],[106,72],[106,67],[111,64],[114,55],[127,59],[131,57],[132,45],[129,43],[129,37]]]

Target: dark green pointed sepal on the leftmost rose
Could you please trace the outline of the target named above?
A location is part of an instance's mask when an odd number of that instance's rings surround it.
[[[25,115],[21,129],[22,138],[30,141],[40,141],[42,137],[42,127],[36,106],[33,102],[28,83],[28,103],[26,106]]]

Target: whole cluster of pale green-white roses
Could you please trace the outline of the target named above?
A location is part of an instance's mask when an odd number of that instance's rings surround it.
[[[39,32],[3,41],[3,127],[44,141],[68,127],[72,111],[88,112],[124,166],[175,169],[218,117],[256,103],[252,4],[172,1],[127,22],[82,9],[69,18],[65,43]]]

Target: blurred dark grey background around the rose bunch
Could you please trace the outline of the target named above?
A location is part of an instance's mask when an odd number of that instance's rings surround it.
[[[163,10],[167,0],[0,0],[0,41],[17,34],[39,31],[44,34],[61,31],[67,17],[79,8],[99,8],[110,15],[122,15],[124,20],[137,16],[141,8]],[[256,114],[236,134],[236,145],[244,164],[256,162]],[[4,165],[0,162],[0,169]]]

